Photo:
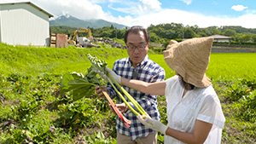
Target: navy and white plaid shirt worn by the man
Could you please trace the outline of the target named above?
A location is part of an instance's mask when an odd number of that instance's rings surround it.
[[[128,79],[138,79],[143,80],[148,83],[153,83],[156,81],[163,81],[166,77],[165,70],[156,64],[154,61],[148,59],[148,55],[145,57],[145,59],[137,65],[137,68],[135,69],[131,65],[131,60],[129,58],[116,60],[113,64],[113,72],[116,72],[119,76],[123,78]],[[137,78],[132,77],[132,73],[137,72]],[[157,109],[157,95],[148,95],[144,94],[140,91],[137,91],[135,89],[130,89],[124,85],[122,85],[125,90],[133,96],[133,98],[143,107],[143,109],[150,115],[151,118],[160,120],[160,113]],[[115,96],[117,103],[123,103],[122,99],[117,95],[117,93],[114,91],[111,84],[107,84],[108,88],[108,95],[113,99]],[[117,87],[117,89],[119,89]],[[121,90],[119,92],[124,95]],[[127,99],[126,96],[125,100],[131,104],[131,107],[134,107]],[[135,110],[137,110],[134,107]],[[127,112],[123,113],[125,118],[128,118],[131,120],[130,128],[125,128],[125,125],[123,124],[123,121],[117,117],[116,118],[116,129],[119,131],[122,135],[131,136],[131,141],[136,140],[139,137],[145,137],[148,134],[154,132],[154,130],[146,128],[141,122],[137,119],[136,115],[131,112],[129,109]]]

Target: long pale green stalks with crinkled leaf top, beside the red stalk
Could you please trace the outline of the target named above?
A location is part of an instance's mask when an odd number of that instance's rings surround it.
[[[120,84],[118,84],[111,75],[109,75],[109,73],[105,70],[105,67],[108,65],[106,61],[104,60],[98,60],[96,57],[91,56],[90,54],[88,54],[88,58],[90,60],[91,65],[96,68],[97,71],[101,71],[104,72],[104,74],[107,76],[108,78],[108,82],[113,86],[113,89],[118,93],[118,95],[120,96],[120,98],[125,102],[125,104],[127,105],[127,107],[129,107],[131,109],[131,112],[133,112],[136,115],[139,115],[138,112],[140,112],[143,116],[148,116],[148,113],[145,112],[143,110],[143,107],[141,107],[137,101],[123,88],[120,86]],[[121,91],[125,94],[125,96],[131,101],[131,103],[134,105],[134,107],[137,108],[137,111],[135,111],[131,105],[125,100],[125,97],[123,95],[120,94],[119,90],[114,86],[114,84],[116,84],[119,89],[121,89]]]

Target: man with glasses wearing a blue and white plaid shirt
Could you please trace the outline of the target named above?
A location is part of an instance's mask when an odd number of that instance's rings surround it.
[[[125,32],[125,44],[129,57],[116,60],[113,64],[113,72],[124,78],[143,80],[148,83],[163,81],[166,76],[164,69],[148,59],[149,41],[149,33],[142,26],[129,28]],[[123,87],[148,112],[151,118],[160,120],[156,101],[157,95],[148,95],[135,89]],[[106,90],[111,98],[117,96],[111,84],[107,84],[107,88],[102,86],[102,89]],[[96,86],[96,93],[99,96],[103,96],[100,86]],[[126,97],[125,99],[128,101]],[[137,116],[131,110],[128,110],[128,107],[119,96],[117,96],[116,102],[120,112],[123,112],[125,118],[131,120],[131,127],[127,129],[119,117],[116,119],[117,143],[157,143],[157,132],[141,124]],[[131,104],[130,101],[128,102]],[[131,104],[131,107],[134,106]]]

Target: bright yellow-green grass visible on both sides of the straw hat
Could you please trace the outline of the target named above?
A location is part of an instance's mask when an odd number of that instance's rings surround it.
[[[149,55],[166,71],[166,78],[171,78],[175,72],[166,65],[163,55]],[[212,53],[207,69],[207,77],[215,81],[232,81],[238,78],[256,76],[255,53]]]

